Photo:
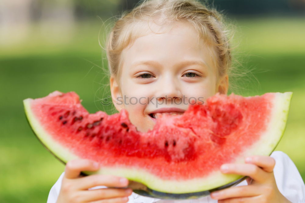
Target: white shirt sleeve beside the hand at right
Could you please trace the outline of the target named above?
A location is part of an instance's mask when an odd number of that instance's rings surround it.
[[[282,151],[274,151],[273,169],[278,190],[292,203],[305,203],[305,185],[303,179],[288,155]]]

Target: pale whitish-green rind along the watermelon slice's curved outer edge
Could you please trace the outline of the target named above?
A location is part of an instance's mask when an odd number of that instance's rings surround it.
[[[242,155],[237,157],[234,163],[244,163],[244,158],[246,156],[269,156],[280,141],[285,131],[292,92],[274,94],[274,107],[271,112],[272,116],[270,123],[268,123],[267,130],[262,135],[261,139],[257,143],[253,144],[251,148],[244,151]],[[39,139],[41,139],[43,144],[45,144],[45,146],[47,146],[50,151],[56,153],[56,156],[58,156],[58,158],[62,159],[64,162],[78,158],[77,156],[70,153],[67,149],[61,147],[58,143],[53,141],[51,136],[48,136],[47,132],[45,132],[45,130],[40,126],[30,110],[31,101],[32,99],[24,100],[26,114],[30,125],[33,129],[35,129],[36,135],[39,137]],[[87,173],[90,174],[90,172]],[[126,177],[129,180],[143,183],[152,190],[175,194],[208,191],[213,188],[221,187],[231,183],[242,177],[239,175],[226,175],[220,171],[215,171],[205,178],[196,178],[187,181],[163,180],[157,176],[152,175],[151,173],[146,172],[143,169],[117,169],[111,167],[102,167],[97,173]]]

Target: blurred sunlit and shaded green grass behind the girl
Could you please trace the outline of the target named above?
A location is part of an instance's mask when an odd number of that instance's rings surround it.
[[[292,91],[284,137],[276,150],[294,161],[305,179],[305,21],[261,18],[236,21],[234,50],[245,77],[236,80],[244,96]],[[64,166],[37,140],[27,124],[22,100],[59,90],[75,91],[93,113],[104,110],[99,99],[109,94],[102,22],[80,22],[68,41],[43,36],[33,26],[26,41],[0,47],[0,202],[46,202]],[[46,40],[48,37],[48,41]],[[51,40],[50,40],[51,39]],[[94,65],[96,64],[96,65]],[[100,67],[98,67],[100,66]]]

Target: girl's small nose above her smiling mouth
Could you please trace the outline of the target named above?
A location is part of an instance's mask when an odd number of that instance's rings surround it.
[[[156,97],[158,100],[182,99],[180,84],[175,77],[163,77],[158,81]]]

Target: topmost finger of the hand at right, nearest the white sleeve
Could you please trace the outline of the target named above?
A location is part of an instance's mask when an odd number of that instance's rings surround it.
[[[255,164],[269,173],[273,171],[275,166],[275,160],[270,156],[250,156],[245,159],[245,162]]]

